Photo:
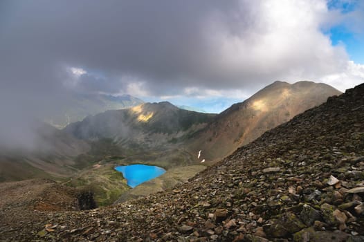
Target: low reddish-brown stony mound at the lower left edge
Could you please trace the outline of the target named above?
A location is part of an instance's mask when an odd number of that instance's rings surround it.
[[[12,227],[10,230],[16,232],[18,226],[43,219],[43,212],[80,210],[90,202],[87,192],[80,193],[48,179],[0,183],[0,194],[0,241],[6,236],[4,229]]]

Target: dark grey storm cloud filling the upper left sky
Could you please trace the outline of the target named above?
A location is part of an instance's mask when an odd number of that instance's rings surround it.
[[[241,20],[239,1],[7,3],[2,41],[14,59],[98,69],[111,80],[137,75],[161,84],[219,86],[223,79],[237,80],[235,73],[216,68],[220,57],[209,40],[213,30],[206,27],[222,17],[227,31],[240,35],[234,26]]]

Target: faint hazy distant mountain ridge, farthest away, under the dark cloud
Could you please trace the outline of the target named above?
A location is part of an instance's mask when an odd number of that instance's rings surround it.
[[[95,115],[107,110],[126,109],[143,104],[143,101],[131,95],[78,94],[73,95],[60,110],[56,110],[46,118],[46,122],[58,129],[72,122],[81,121],[89,115]]]

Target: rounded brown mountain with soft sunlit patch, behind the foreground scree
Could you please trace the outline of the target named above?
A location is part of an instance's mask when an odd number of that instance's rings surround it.
[[[339,94],[327,84],[274,82],[217,115],[214,122],[187,141],[188,150],[202,150],[200,160],[219,160],[265,131]]]

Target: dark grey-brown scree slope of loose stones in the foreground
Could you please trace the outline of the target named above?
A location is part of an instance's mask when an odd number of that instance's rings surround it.
[[[43,212],[33,223],[2,222],[0,238],[364,241],[363,120],[361,84],[167,192],[96,210]]]

